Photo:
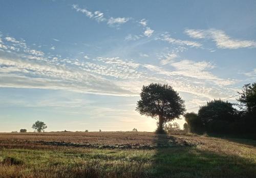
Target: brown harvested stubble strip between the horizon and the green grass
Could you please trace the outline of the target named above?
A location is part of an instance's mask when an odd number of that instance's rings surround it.
[[[190,138],[190,139],[189,139]],[[153,132],[45,132],[0,133],[0,146],[56,145],[92,148],[138,148],[196,146],[191,137],[155,135]]]

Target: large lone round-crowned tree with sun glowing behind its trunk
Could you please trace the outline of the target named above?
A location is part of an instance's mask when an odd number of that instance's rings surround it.
[[[137,102],[136,110],[141,114],[159,119],[159,133],[163,133],[163,124],[179,118],[185,112],[184,101],[172,86],[151,83],[142,87],[141,99]]]

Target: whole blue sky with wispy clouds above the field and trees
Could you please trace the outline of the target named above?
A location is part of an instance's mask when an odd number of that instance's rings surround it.
[[[255,1],[0,1],[0,132],[33,131],[36,120],[46,131],[154,131],[156,120],[135,110],[152,82],[173,86],[187,112],[237,95],[256,81],[255,9]]]

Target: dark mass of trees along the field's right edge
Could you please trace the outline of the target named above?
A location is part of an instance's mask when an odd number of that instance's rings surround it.
[[[256,139],[256,82],[244,85],[239,94],[239,103],[212,100],[201,106],[198,113],[186,113],[184,128],[199,134],[207,132]]]

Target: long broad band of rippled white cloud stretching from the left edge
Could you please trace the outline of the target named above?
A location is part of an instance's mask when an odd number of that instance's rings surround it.
[[[0,58],[0,87],[42,88],[76,93],[114,96],[138,96],[143,84],[168,83],[179,92],[199,97],[227,97],[229,85],[235,81],[222,79],[210,72],[215,65],[206,61],[177,60],[176,53],[168,53],[162,64],[142,64],[120,57],[61,58],[42,52],[41,56],[26,49],[8,52]],[[6,53],[5,53],[6,52]],[[40,53],[39,53],[40,54]],[[6,55],[6,57],[4,57]],[[146,56],[146,55],[143,55]],[[200,86],[198,86],[200,83]]]

